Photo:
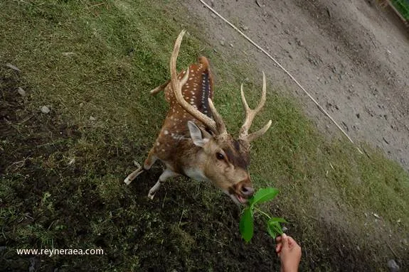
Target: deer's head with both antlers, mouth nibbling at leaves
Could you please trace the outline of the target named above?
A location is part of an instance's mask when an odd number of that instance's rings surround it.
[[[186,69],[180,80],[176,72],[176,59],[184,33],[185,31],[182,31],[179,34],[171,55],[171,86],[174,89],[178,104],[198,121],[188,121],[186,125],[193,143],[199,148],[197,158],[201,161],[201,169],[203,170],[201,174],[220,187],[234,202],[245,203],[248,197],[251,197],[254,193],[250,174],[248,173],[250,142],[265,134],[271,126],[270,120],[262,129],[252,134],[248,133],[255,115],[265,104],[266,82],[264,72],[262,73],[262,98],[255,109],[248,107],[243,92],[243,84],[241,85],[240,91],[245,109],[245,121],[238,138],[233,138],[228,134],[223,118],[218,114],[210,98],[208,104],[206,103],[206,107],[210,109],[211,114],[209,115],[213,116],[213,119],[184,99],[181,89],[189,78],[189,69]]]

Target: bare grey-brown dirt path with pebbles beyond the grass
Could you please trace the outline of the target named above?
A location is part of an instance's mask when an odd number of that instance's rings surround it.
[[[221,58],[256,63],[272,85],[290,89],[319,129],[341,135],[264,54],[199,1],[184,4]],[[370,0],[208,4],[286,67],[356,143],[383,149],[409,170],[409,39],[390,9]]]

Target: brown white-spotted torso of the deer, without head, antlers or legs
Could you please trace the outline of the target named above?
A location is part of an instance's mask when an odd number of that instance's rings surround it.
[[[213,78],[208,67],[208,60],[201,57],[198,62],[188,67],[189,79],[182,87],[182,94],[189,104],[211,117],[208,99],[213,98]],[[178,78],[181,79],[185,72],[185,70],[182,71]],[[201,149],[191,141],[186,124],[188,121],[193,121],[202,127],[203,124],[178,104],[170,82],[164,87],[164,93],[169,103],[169,111],[151,153],[171,170],[184,174],[185,169],[196,168],[193,164]]]

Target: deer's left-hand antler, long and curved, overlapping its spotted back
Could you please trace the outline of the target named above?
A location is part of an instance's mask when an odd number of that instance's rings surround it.
[[[185,30],[181,31],[179,34],[178,38],[176,39],[175,45],[174,45],[174,51],[171,55],[171,61],[169,63],[170,70],[171,70],[171,83],[172,87],[174,88],[174,94],[176,97],[176,101],[181,105],[184,110],[186,110],[189,114],[191,114],[193,117],[198,119],[198,121],[201,121],[205,126],[207,126],[211,131],[213,131],[215,134],[219,134],[218,132],[218,127],[216,126],[215,120],[211,119],[210,117],[206,116],[205,114],[202,114],[201,111],[198,111],[195,107],[193,107],[191,104],[188,104],[186,100],[184,99],[182,95],[182,86],[186,83],[188,80],[188,72],[189,70],[186,69],[186,73],[182,80],[178,80],[178,74],[176,72],[176,59],[178,58],[179,54],[179,48],[181,46],[182,39],[184,37],[184,34],[186,33]],[[214,106],[212,108],[212,111],[214,109]],[[213,111],[213,114],[215,116],[220,116],[218,115],[217,111]],[[218,118],[215,118],[216,120]],[[224,126],[224,124],[223,124]]]

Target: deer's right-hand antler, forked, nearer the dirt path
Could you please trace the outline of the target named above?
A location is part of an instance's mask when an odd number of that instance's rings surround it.
[[[250,143],[251,141],[254,141],[256,138],[262,136],[262,134],[265,134],[267,129],[270,128],[271,126],[271,120],[268,121],[265,126],[262,127],[262,129],[259,129],[258,131],[253,132],[252,134],[248,134],[248,130],[250,129],[251,124],[253,123],[254,117],[257,115],[257,113],[264,107],[265,104],[265,98],[266,98],[266,83],[265,83],[265,75],[264,72],[262,72],[262,95],[261,95],[261,100],[260,103],[258,103],[257,107],[255,109],[250,109],[248,107],[247,101],[245,100],[244,92],[243,92],[243,83],[240,87],[240,92],[241,92],[241,101],[243,102],[243,107],[245,110],[245,121],[243,126],[240,129],[240,140],[243,140],[247,143]]]

